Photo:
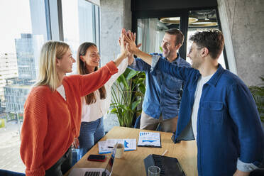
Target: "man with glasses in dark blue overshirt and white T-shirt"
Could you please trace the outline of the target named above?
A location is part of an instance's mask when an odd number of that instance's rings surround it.
[[[249,175],[263,163],[264,133],[248,87],[217,62],[224,48],[221,31],[197,32],[188,57],[193,68],[177,67],[159,55],[131,53],[158,70],[185,81],[175,142],[197,141],[199,175]]]

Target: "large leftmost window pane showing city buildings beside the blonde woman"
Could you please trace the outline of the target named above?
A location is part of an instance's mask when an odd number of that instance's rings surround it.
[[[41,4],[38,6],[40,9]],[[35,79],[35,62],[32,62],[32,58],[37,33],[34,33],[34,26],[41,26],[42,23],[40,19],[34,21],[33,9],[28,0],[0,2],[0,21],[4,24],[0,28],[0,63],[3,66],[0,75],[4,79],[0,84],[0,119],[5,121],[4,128],[0,128],[0,168],[17,172],[24,172],[25,166],[19,154],[20,124],[16,116],[23,111],[19,107],[23,107],[26,99],[17,92],[23,89],[23,80]],[[36,11],[35,15],[38,13]],[[44,40],[43,33],[38,35],[42,35]],[[20,96],[23,97],[22,101],[19,101]]]

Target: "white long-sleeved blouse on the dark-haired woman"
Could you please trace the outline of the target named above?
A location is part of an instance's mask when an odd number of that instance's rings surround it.
[[[100,99],[99,90],[94,92],[97,97],[97,101],[94,104],[86,104],[84,97],[82,97],[82,121],[96,121],[106,114],[111,104],[111,86],[116,79],[125,72],[127,66],[128,59],[126,58],[120,63],[118,67],[119,71],[111,76],[108,82],[104,84],[104,87],[106,88],[106,99]]]

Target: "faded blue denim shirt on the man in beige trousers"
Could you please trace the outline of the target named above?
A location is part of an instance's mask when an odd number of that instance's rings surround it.
[[[163,60],[167,60],[165,57],[162,57],[162,54],[155,53],[155,55],[159,55]],[[172,64],[190,67],[189,63],[182,59],[179,53],[177,53],[177,58]],[[136,71],[145,72],[145,85],[147,87],[143,101],[143,111],[145,114],[154,119],[159,119],[160,114],[162,114],[164,120],[178,116],[182,80],[172,77],[165,72],[160,72],[160,70],[157,70],[154,76],[150,73],[150,65],[140,58],[134,60],[128,67]]]

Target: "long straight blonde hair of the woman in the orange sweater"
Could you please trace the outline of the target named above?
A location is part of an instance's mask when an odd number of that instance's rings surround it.
[[[40,52],[39,75],[35,86],[48,86],[55,91],[59,83],[56,70],[56,58],[61,59],[70,48],[67,43],[50,40],[45,43]]]

